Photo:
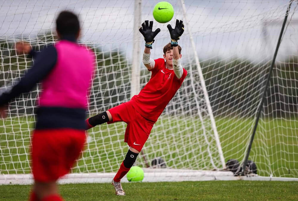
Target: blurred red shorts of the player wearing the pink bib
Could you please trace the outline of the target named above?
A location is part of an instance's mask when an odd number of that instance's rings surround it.
[[[80,157],[85,141],[84,130],[34,130],[31,148],[34,180],[56,181],[69,173]]]

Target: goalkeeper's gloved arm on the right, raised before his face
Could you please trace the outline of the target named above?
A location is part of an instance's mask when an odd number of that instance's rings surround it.
[[[167,25],[167,28],[169,29],[170,36],[171,36],[171,46],[173,46],[173,69],[176,77],[180,79],[183,74],[183,68],[180,63],[180,57],[178,50],[178,40],[180,39],[180,36],[184,32],[184,24],[183,21],[176,20],[176,26],[175,29],[172,28],[170,24]]]

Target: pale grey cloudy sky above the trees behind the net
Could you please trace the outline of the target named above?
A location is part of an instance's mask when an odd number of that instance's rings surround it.
[[[162,47],[170,41],[167,24],[174,26],[182,19],[186,26],[181,36],[184,54],[193,54],[189,34],[194,37],[202,59],[229,58],[237,55],[250,60],[270,58],[277,43],[289,0],[185,0],[186,18],[180,0],[168,1],[174,7],[169,23],[157,23],[152,15],[159,1],[142,0],[142,21],[153,20],[153,28],[162,31],[156,36],[152,54],[162,56]],[[298,55],[298,1],[294,1],[279,57]],[[126,50],[132,56],[134,0],[0,0],[0,39],[16,37],[35,40],[48,30],[54,31],[55,18],[62,10],[79,14],[82,22],[82,43],[96,43]],[[141,26],[141,24],[139,25]],[[156,51],[157,50],[157,51]]]

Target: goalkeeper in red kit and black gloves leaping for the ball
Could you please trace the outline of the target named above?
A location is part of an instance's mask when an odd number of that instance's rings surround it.
[[[130,147],[124,161],[112,180],[116,195],[125,195],[120,180],[129,171],[136,161],[136,157],[147,141],[151,129],[164,108],[180,88],[187,71],[180,64],[181,47],[178,40],[184,32],[182,21],[176,20],[176,27],[167,25],[171,43],[163,48],[163,58],[153,60],[150,58],[150,49],[154,37],[160,32],[152,32],[153,21],[145,21],[139,31],[145,38],[145,51],[143,63],[151,71],[151,79],[136,96],[128,102],[113,107],[101,114],[87,119],[88,129],[107,122],[108,124],[124,121],[127,123],[124,141]],[[165,61],[164,61],[165,60]]]

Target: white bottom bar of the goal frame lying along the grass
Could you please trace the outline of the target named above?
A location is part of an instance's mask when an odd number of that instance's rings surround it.
[[[142,182],[180,182],[180,181],[298,181],[291,177],[264,177],[264,176],[234,176],[232,172],[189,170],[189,169],[153,169],[143,168],[144,180]],[[67,183],[109,183],[115,176],[111,173],[72,173],[61,177],[59,184]],[[126,177],[121,179],[122,183],[128,183]],[[33,184],[32,174],[3,174],[0,175],[0,185],[7,184]]]

